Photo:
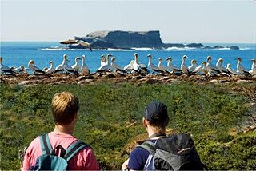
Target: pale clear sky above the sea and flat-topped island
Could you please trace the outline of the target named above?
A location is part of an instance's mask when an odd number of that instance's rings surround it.
[[[256,1],[0,0],[1,41],[59,41],[97,30],[160,30],[162,42],[256,43]]]

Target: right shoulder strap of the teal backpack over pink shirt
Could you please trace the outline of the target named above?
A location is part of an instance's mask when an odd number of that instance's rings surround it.
[[[70,161],[70,159],[74,157],[76,153],[85,147],[90,147],[90,145],[86,145],[83,141],[80,140],[75,141],[66,149],[66,155],[63,158],[66,159],[66,161]]]

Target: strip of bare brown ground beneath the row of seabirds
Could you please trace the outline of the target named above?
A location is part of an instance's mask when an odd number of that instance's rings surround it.
[[[9,85],[59,85],[59,84],[94,84],[100,82],[134,82],[135,84],[142,83],[164,83],[190,81],[199,84],[213,83],[233,83],[233,82],[256,82],[256,77],[246,76],[211,76],[205,75],[171,75],[171,74],[94,74],[88,76],[76,77],[72,74],[53,74],[53,75],[29,75],[19,74],[16,77],[12,75],[0,74],[0,82],[5,82]]]

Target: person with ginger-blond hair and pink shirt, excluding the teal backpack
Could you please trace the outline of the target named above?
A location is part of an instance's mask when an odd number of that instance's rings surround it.
[[[78,120],[79,100],[72,93],[56,93],[51,101],[51,110],[54,117],[54,130],[48,133],[50,145],[54,149],[62,145],[67,149],[74,142],[74,125]],[[42,155],[39,137],[31,143],[24,157],[22,170],[34,169],[36,160]],[[86,146],[68,161],[68,169],[71,170],[99,170],[98,162],[93,149]]]

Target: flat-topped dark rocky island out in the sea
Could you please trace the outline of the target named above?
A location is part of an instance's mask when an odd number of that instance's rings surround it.
[[[222,49],[239,50],[238,46],[204,46],[202,43],[163,43],[159,30],[150,31],[95,31],[85,37],[74,37],[75,40],[89,42],[94,49],[127,49],[152,48],[165,50],[172,47],[177,48],[201,48],[201,49]],[[72,49],[82,49],[81,45],[69,45]]]

